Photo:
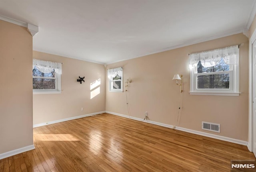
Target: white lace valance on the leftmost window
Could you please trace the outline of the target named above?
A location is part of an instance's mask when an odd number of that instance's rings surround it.
[[[62,74],[62,64],[58,62],[33,59],[33,69],[35,66],[42,73],[50,73],[54,69],[55,73]]]

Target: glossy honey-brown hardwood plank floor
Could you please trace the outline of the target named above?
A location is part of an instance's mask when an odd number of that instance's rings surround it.
[[[230,160],[255,159],[246,146],[106,113],[34,128],[34,145],[0,172],[230,172]]]

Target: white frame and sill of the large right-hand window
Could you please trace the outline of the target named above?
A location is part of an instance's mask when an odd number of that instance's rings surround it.
[[[190,68],[190,95],[220,95],[220,96],[239,96],[239,55],[238,64],[229,65],[229,71],[218,71],[208,73],[197,73],[197,66]],[[197,89],[197,76],[230,74],[230,89]]]

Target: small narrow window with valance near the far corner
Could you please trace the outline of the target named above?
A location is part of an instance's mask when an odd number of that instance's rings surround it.
[[[123,91],[123,68],[108,69],[109,91]]]

